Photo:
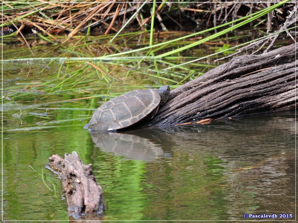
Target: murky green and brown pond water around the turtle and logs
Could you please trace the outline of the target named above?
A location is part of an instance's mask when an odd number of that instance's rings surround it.
[[[59,69],[60,76],[56,75]],[[130,85],[133,82],[140,86],[169,83],[131,70],[125,83],[98,80],[92,89],[86,84],[80,88],[67,76],[74,69],[59,63],[49,67],[47,62],[4,63],[3,220],[74,220],[68,216],[60,179],[45,168],[53,154],[64,157],[72,151],[85,164],[93,164],[103,189],[107,210],[97,220],[240,221],[263,220],[243,215],[264,213],[277,214],[266,220],[294,219],[294,111],[207,125],[91,134],[83,127],[98,102],[108,98],[73,99],[120,94],[136,89]],[[40,174],[43,171],[58,191],[49,190],[29,166]]]

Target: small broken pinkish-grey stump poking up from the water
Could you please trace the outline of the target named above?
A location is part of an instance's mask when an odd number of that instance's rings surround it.
[[[103,191],[92,173],[92,164],[85,165],[74,151],[65,158],[53,155],[50,168],[62,178],[69,214],[79,219],[80,214],[103,213]]]

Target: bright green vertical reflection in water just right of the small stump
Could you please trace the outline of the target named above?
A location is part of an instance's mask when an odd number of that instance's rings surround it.
[[[100,176],[101,186],[106,191],[105,199],[108,200],[105,219],[142,219],[147,197],[141,185],[144,180],[145,163],[115,157],[108,162],[95,161],[95,165],[98,169],[94,173]]]

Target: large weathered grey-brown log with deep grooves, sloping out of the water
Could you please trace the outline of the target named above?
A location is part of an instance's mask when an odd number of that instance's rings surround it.
[[[237,56],[171,91],[146,125],[173,125],[295,108],[295,50]]]

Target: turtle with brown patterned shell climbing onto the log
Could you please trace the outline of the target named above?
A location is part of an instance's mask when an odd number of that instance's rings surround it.
[[[169,95],[169,85],[127,92],[102,104],[84,128],[111,132],[153,118],[159,106],[167,102]]]

